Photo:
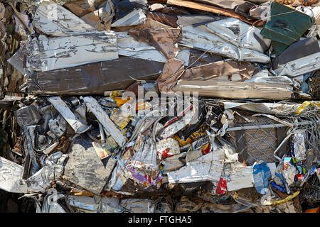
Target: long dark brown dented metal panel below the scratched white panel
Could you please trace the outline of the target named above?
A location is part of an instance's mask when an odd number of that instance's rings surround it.
[[[27,78],[28,91],[34,94],[104,94],[105,91],[126,89],[134,79],[155,80],[163,67],[163,62],[119,57],[78,67],[36,72]]]

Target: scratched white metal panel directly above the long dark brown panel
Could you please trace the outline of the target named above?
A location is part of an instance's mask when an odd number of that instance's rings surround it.
[[[26,67],[42,72],[118,58],[117,37],[107,31],[57,37],[40,35],[26,45],[29,51]]]

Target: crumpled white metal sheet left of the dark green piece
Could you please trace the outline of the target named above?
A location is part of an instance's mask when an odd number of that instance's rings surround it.
[[[263,54],[264,49],[254,35],[267,46],[270,41],[264,40],[259,33],[258,28],[235,18],[226,18],[200,26],[183,26],[179,44],[240,61],[270,62],[270,57]]]

